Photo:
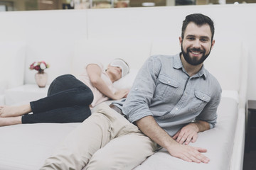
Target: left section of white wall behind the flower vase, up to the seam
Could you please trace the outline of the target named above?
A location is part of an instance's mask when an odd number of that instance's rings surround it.
[[[0,13],[0,42],[25,41],[25,84],[34,84],[36,71],[29,65],[45,60],[50,64],[48,84],[70,73],[75,41],[87,38],[87,11],[18,11]],[[2,62],[2,61],[1,61]]]

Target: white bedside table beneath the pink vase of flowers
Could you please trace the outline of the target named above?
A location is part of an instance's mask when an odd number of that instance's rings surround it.
[[[21,105],[47,96],[49,86],[39,88],[37,84],[24,84],[5,91],[6,105]]]

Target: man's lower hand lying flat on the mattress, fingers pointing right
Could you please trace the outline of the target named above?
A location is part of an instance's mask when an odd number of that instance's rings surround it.
[[[187,162],[203,162],[207,164],[210,161],[208,157],[201,154],[201,152],[207,152],[207,149],[199,147],[191,147],[176,143],[176,145],[173,144],[171,147],[167,148],[167,151],[171,156],[183,159]]]

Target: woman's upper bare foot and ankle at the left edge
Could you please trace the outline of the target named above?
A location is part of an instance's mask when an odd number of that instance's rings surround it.
[[[22,106],[0,106],[0,117],[15,117],[18,115],[24,115],[31,112],[30,104]]]

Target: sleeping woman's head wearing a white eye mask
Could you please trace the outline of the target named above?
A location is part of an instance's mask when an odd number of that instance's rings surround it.
[[[111,74],[112,81],[117,81],[129,73],[129,65],[120,58],[114,59],[107,66],[107,73]]]

